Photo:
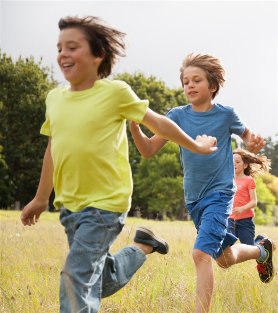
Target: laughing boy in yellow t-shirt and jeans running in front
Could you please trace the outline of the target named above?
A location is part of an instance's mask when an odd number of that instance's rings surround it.
[[[101,298],[127,284],[146,254],[169,249],[150,229],[139,227],[131,246],[109,253],[131,205],[126,120],[195,153],[216,151],[216,138],[191,139],[127,84],[105,78],[116,57],[124,55],[124,33],[94,17],[62,18],[59,28],[57,60],[70,86],[47,96],[41,134],[49,136],[48,146],[38,191],[21,221],[38,222],[54,186],[70,247],[61,271],[60,312],[94,313]]]

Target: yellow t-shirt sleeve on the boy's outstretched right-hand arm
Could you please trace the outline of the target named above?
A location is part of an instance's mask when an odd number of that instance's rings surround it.
[[[119,93],[119,115],[122,119],[140,123],[146,114],[149,100],[140,100],[131,87],[123,83]]]

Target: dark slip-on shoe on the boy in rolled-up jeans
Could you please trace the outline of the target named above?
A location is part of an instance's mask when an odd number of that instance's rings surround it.
[[[156,237],[149,228],[143,226],[136,229],[136,234],[133,240],[139,244],[148,244],[149,246],[154,247],[152,253],[157,252],[160,254],[166,254],[169,251],[169,246],[165,240]]]

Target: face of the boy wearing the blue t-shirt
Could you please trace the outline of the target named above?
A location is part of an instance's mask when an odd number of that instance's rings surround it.
[[[197,66],[188,66],[183,73],[184,93],[192,105],[211,105],[216,90],[210,87],[205,70]]]

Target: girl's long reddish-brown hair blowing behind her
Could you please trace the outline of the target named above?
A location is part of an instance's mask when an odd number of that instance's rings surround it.
[[[244,149],[237,148],[233,154],[239,154],[244,164],[247,167],[244,169],[246,176],[259,176],[260,174],[267,173],[271,169],[271,161],[264,154],[253,154]]]

